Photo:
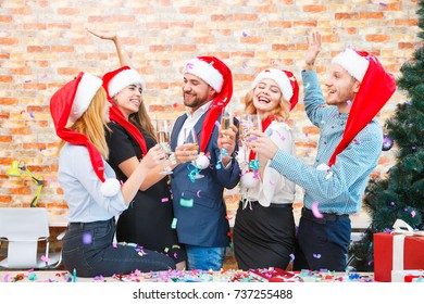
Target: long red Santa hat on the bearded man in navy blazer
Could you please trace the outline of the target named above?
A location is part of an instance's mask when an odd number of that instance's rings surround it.
[[[217,92],[211,109],[204,117],[200,134],[200,152],[204,152],[222,109],[228,104],[233,97],[232,71],[215,56],[197,56],[186,63],[183,73],[199,77]]]

